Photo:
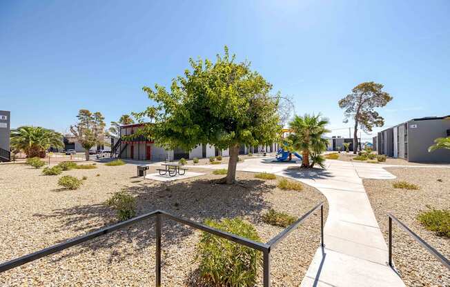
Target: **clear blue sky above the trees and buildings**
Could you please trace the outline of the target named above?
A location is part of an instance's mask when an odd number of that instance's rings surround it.
[[[133,3],[133,5],[130,5]],[[0,110],[64,132],[150,105],[189,57],[238,59],[348,135],[337,101],[363,81],[394,97],[386,126],[450,114],[450,1],[0,1]],[[370,135],[364,135],[370,137]]]

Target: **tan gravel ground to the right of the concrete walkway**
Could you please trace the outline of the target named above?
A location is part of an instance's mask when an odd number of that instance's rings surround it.
[[[448,168],[387,168],[398,179],[364,179],[364,187],[386,240],[387,212],[422,237],[431,246],[450,258],[450,239],[438,237],[425,230],[416,217],[429,207],[450,208],[450,170]],[[441,179],[442,182],[438,181]],[[404,180],[420,186],[420,190],[392,187],[394,181]],[[407,286],[450,286],[450,272],[427,250],[393,222],[393,259]]]

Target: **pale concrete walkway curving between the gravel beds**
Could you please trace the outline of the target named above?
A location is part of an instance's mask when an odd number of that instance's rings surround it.
[[[404,286],[387,265],[388,250],[375,219],[363,178],[393,179],[378,164],[353,164],[327,160],[326,169],[315,171],[289,168],[299,164],[273,159],[246,159],[237,170],[271,172],[302,181],[320,190],[328,200],[329,215],[324,226],[325,248],[318,248],[302,281],[306,286]],[[192,166],[226,168],[226,165]]]

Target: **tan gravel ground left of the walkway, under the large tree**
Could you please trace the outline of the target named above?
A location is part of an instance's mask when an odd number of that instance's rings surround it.
[[[155,172],[155,167],[149,172]],[[197,171],[197,169],[195,170]],[[276,181],[237,172],[241,185],[214,184],[211,170],[202,177],[169,184],[136,177],[136,167],[104,166],[70,170],[62,175],[86,176],[79,190],[57,186],[60,176],[22,164],[0,165],[0,262],[57,244],[113,224],[115,212],[104,206],[113,192],[126,189],[137,199],[137,214],[155,209],[195,221],[243,217],[255,225],[263,241],[282,228],[262,222],[269,208],[300,217],[324,197],[309,186],[284,191]],[[99,175],[99,176],[97,176]],[[0,286],[154,286],[154,219],[104,235],[0,275]],[[162,282],[164,286],[198,286],[193,262],[199,232],[164,221]],[[298,286],[320,244],[320,215],[311,217],[273,252],[273,286]]]

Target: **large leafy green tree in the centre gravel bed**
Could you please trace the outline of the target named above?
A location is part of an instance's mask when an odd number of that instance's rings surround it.
[[[153,119],[142,129],[165,148],[191,150],[199,143],[229,148],[228,173],[224,181],[233,184],[239,145],[257,146],[277,139],[280,118],[271,97],[271,84],[251,70],[250,63],[237,63],[235,55],[208,59],[189,59],[190,70],[173,79],[170,91],[163,86],[144,87],[155,101],[139,117]]]

